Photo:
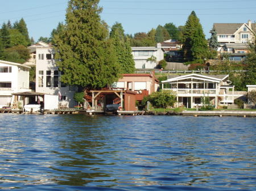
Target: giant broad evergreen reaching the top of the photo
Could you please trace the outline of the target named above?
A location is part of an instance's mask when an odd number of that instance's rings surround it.
[[[70,0],[63,32],[54,36],[61,81],[82,88],[102,88],[116,82],[119,65],[108,29],[101,22],[100,0]]]

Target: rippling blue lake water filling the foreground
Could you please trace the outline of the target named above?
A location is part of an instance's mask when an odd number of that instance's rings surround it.
[[[256,118],[0,114],[0,190],[256,190]]]

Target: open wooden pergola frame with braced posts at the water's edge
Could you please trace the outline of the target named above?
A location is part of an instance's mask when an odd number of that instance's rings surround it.
[[[92,92],[92,109],[95,109],[95,105],[97,105],[97,97],[101,94],[115,94],[121,100],[121,107],[123,108],[123,90],[91,90]],[[105,103],[104,103],[105,104]]]

